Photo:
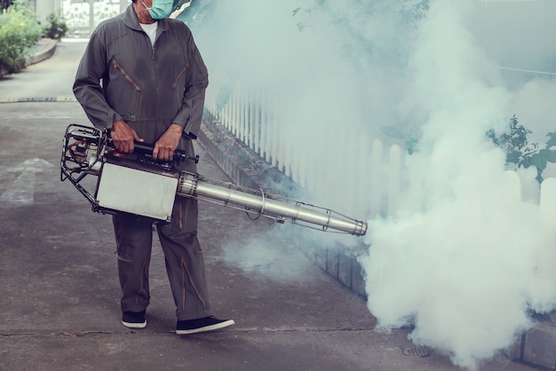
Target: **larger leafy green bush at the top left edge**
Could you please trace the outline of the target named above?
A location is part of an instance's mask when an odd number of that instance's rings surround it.
[[[20,71],[42,31],[28,4],[14,1],[0,13],[0,64],[10,72]]]

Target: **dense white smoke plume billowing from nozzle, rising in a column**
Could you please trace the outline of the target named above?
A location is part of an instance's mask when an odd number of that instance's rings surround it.
[[[556,274],[544,264],[553,258],[554,221],[522,201],[519,178],[504,172],[504,154],[484,138],[504,127],[515,97],[467,28],[475,5],[431,2],[418,25],[404,104],[426,117],[427,203],[418,214],[369,221],[369,256],[361,258],[378,327],[414,324],[415,343],[472,369],[531,326],[528,310],[556,303]]]

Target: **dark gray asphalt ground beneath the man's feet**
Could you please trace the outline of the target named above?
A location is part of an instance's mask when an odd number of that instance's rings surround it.
[[[0,100],[63,94],[83,45],[59,46],[52,59],[0,79]],[[61,61],[74,67],[64,65],[67,74],[56,75],[52,86],[63,89],[51,93],[36,82],[60,73]],[[409,329],[375,331],[365,300],[308,261],[289,241],[289,227],[209,202],[200,203],[199,238],[210,299],[214,314],[236,325],[175,334],[155,239],[147,328],[124,328],[111,218],[93,213],[74,186],[60,182],[64,131],[72,122],[88,123],[81,107],[56,99],[0,103],[0,113],[0,369],[460,369],[446,355],[411,343]],[[199,172],[227,180],[203,147],[196,148]],[[94,179],[85,185],[94,189]],[[481,366],[532,369],[504,357]]]

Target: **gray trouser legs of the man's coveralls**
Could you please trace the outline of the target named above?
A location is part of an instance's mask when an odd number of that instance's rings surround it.
[[[203,250],[197,240],[197,201],[176,197],[170,224],[156,225],[178,320],[211,315]],[[147,309],[153,228],[149,221],[114,216],[123,312]]]

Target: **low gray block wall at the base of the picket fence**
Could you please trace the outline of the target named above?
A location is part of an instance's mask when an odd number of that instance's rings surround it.
[[[298,189],[290,178],[235,138],[207,111],[203,114],[199,141],[210,157],[239,186],[273,190],[273,185],[280,185],[283,190],[284,185],[287,185],[287,189]],[[357,261],[364,247],[335,246],[323,249],[322,242],[308,241],[299,229],[291,228],[292,240],[298,249],[355,295],[365,297],[365,281]],[[321,247],[317,249],[319,245]],[[556,312],[539,315],[535,320],[533,328],[518,336],[508,356],[526,365],[556,370]]]

